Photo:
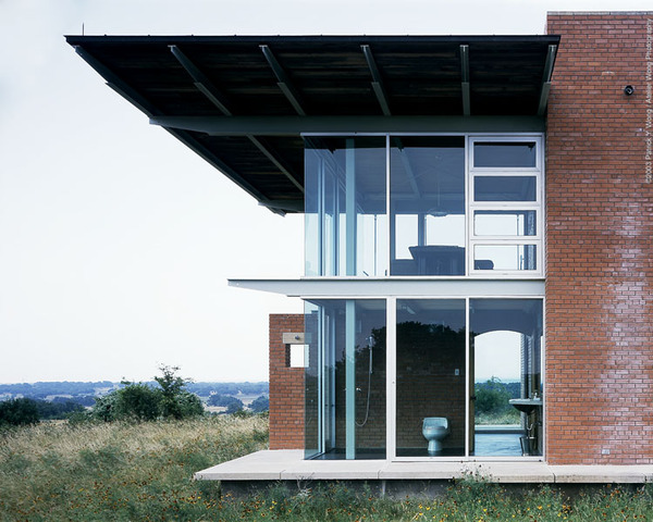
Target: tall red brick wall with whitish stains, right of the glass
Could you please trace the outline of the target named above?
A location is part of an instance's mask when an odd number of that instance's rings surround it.
[[[648,24],[653,29],[653,13],[547,18],[547,32],[562,36],[546,152],[546,455],[553,464],[653,463]],[[634,86],[633,96],[624,95],[626,85]]]

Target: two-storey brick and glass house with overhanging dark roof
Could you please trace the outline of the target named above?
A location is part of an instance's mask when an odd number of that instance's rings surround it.
[[[304,277],[231,282],[305,301],[270,318],[271,451],[201,477],[653,480],[653,12],[550,13],[538,36],[67,41],[306,217]],[[476,408],[494,375],[519,383],[508,426]]]

